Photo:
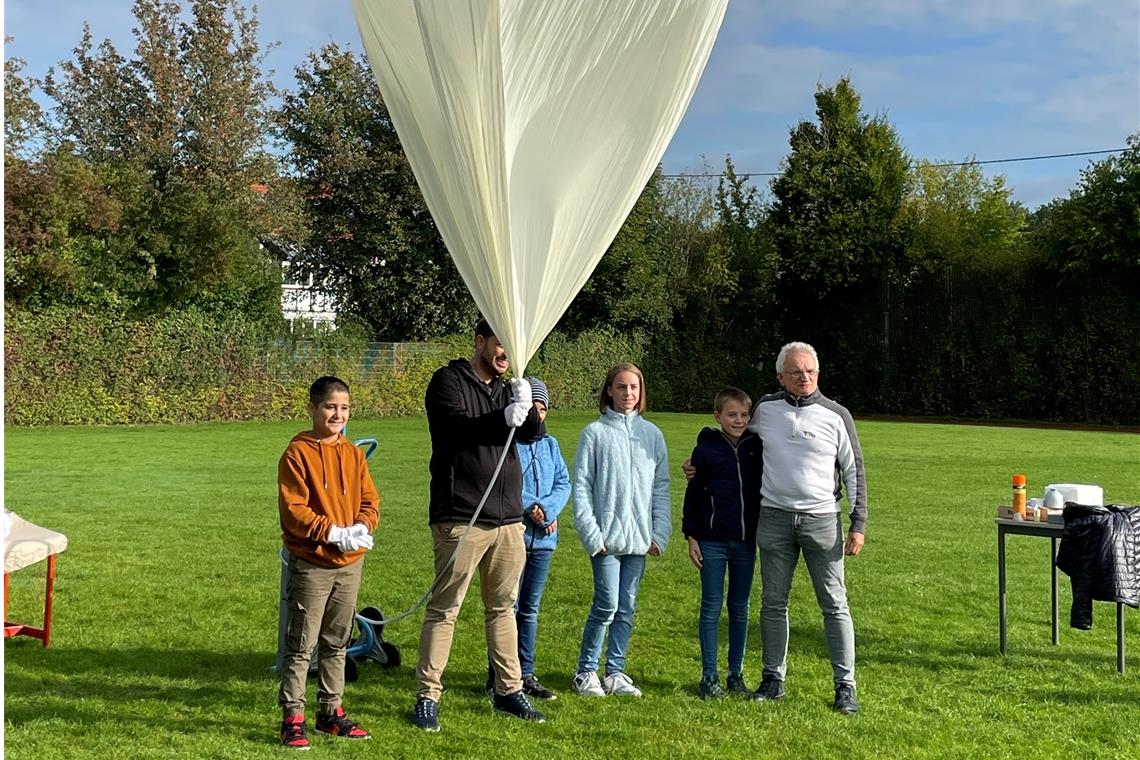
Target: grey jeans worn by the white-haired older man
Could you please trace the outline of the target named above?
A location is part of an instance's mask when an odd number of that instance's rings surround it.
[[[764,676],[788,671],[788,597],[800,551],[823,611],[823,634],[834,683],[855,686],[855,626],[844,583],[844,528],[838,513],[809,515],[773,507],[760,509],[756,531],[760,549],[760,640]]]

